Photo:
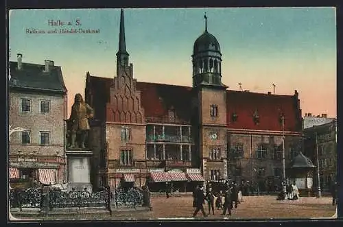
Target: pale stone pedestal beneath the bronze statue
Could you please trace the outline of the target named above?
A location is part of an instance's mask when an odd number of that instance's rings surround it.
[[[92,151],[69,150],[66,151],[68,158],[68,186],[67,191],[74,188],[76,191],[87,189],[93,191],[91,184],[91,157]]]

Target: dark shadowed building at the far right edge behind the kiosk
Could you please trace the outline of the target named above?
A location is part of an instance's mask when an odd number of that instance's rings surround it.
[[[328,123],[305,128],[304,136],[307,156],[316,165],[318,158],[320,187],[323,191],[329,191],[337,176],[337,120],[330,119]],[[314,187],[318,187],[318,177],[314,178]]]

